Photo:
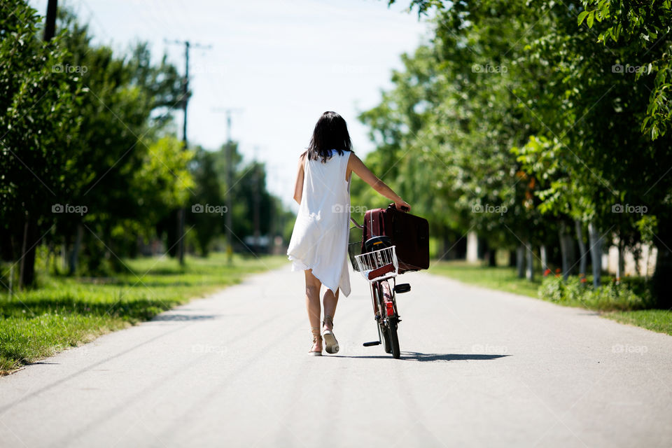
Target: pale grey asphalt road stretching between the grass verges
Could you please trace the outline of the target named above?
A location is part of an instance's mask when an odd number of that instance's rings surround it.
[[[670,447],[672,337],[405,274],[402,359],[367,284],[307,356],[303,275],[250,276],[0,378],[0,447]]]

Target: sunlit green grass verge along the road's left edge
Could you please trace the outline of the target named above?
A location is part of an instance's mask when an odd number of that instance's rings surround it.
[[[213,253],[188,257],[183,268],[143,258],[125,260],[132,272],[114,277],[41,276],[38,288],[0,295],[0,374],[285,263],[284,255],[236,256],[229,265],[225,254]]]

